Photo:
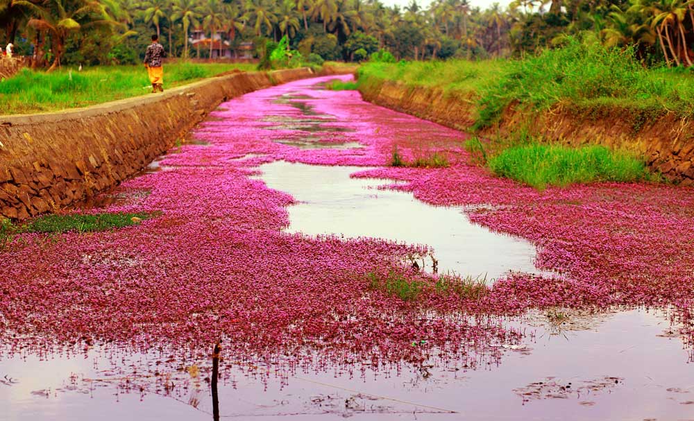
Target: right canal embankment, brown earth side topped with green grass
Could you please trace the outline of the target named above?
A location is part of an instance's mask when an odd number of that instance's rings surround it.
[[[359,91],[494,147],[516,138],[606,146],[668,180],[694,184],[688,76],[578,50],[559,64],[561,51],[517,62],[369,63],[357,74]]]

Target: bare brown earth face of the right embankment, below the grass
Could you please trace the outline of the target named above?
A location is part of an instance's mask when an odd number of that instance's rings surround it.
[[[458,130],[467,130],[475,122],[474,98],[373,78],[359,90],[366,101]],[[529,114],[511,106],[505,110],[498,127],[486,129],[482,135],[496,135],[497,130],[501,134],[529,130],[563,144],[602,144],[624,149],[643,157],[652,169],[670,180],[694,184],[694,124],[674,113],[580,108],[560,103],[549,110]]]

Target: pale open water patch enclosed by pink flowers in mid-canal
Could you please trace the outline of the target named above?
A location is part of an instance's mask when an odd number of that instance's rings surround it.
[[[509,270],[538,273],[535,248],[468,220],[460,207],[434,207],[402,191],[377,189],[387,180],[350,178],[362,167],[271,162],[260,166],[268,187],[298,200],[288,208],[289,232],[377,237],[434,248],[439,273],[496,279]]]

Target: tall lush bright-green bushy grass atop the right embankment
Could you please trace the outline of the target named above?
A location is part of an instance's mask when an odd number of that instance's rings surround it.
[[[645,69],[632,48],[605,48],[573,37],[559,49],[505,63],[498,80],[478,89],[476,128],[494,123],[511,103],[541,110],[567,101],[579,106],[694,108],[694,80],[673,69]]]

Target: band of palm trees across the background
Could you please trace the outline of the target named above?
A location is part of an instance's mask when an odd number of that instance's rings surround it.
[[[405,8],[381,0],[0,0],[0,26],[1,45],[50,59],[52,68],[137,62],[151,33],[170,55],[188,57],[193,29],[261,49],[287,35],[291,49],[325,60],[360,60],[375,49],[398,60],[520,57],[572,35],[634,46],[646,64],[694,62],[691,0],[515,0],[487,10],[468,0],[427,8],[416,0]],[[212,44],[192,55],[209,57]]]

